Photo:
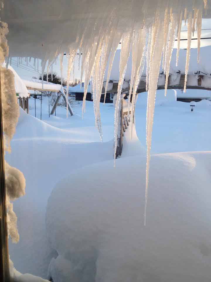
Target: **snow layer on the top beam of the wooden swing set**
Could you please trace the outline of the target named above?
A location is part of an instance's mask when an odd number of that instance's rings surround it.
[[[43,90],[43,91],[52,91],[52,92],[61,92],[64,94],[64,88],[61,84],[55,84],[55,83],[47,83],[46,81],[42,83],[30,81],[30,80],[23,80],[25,83],[25,86],[28,88],[28,90]]]

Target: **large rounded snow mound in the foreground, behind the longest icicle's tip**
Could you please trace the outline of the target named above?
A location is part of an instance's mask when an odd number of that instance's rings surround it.
[[[210,160],[211,152],[152,156],[147,226],[145,158],[92,165],[59,182],[46,213],[58,253],[49,277],[210,281]]]

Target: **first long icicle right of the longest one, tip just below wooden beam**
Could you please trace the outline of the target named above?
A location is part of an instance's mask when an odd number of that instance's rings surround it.
[[[169,31],[169,45],[168,50],[166,52],[166,83],[165,83],[165,96],[167,94],[167,87],[168,87],[168,78],[169,78],[169,69],[171,63],[171,55],[173,51],[173,44],[176,37],[176,15],[172,14],[171,16],[171,24],[170,24],[170,31]]]

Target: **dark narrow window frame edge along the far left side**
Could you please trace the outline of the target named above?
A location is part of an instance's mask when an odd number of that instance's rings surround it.
[[[0,281],[10,281],[0,73]]]

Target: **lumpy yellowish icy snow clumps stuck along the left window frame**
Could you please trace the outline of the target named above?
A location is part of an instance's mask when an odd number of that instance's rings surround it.
[[[14,85],[14,74],[11,70],[2,67],[5,56],[8,56],[8,46],[5,37],[7,33],[7,24],[1,23],[0,71],[2,119],[5,150],[10,153],[10,142],[13,135],[15,134],[16,124],[19,117],[19,106],[17,103],[17,96]],[[7,162],[5,162],[5,180],[8,235],[11,236],[11,239],[14,243],[17,243],[19,241],[17,216],[13,211],[13,204],[10,201],[13,201],[25,194],[25,178],[22,172],[14,167],[11,167]]]

